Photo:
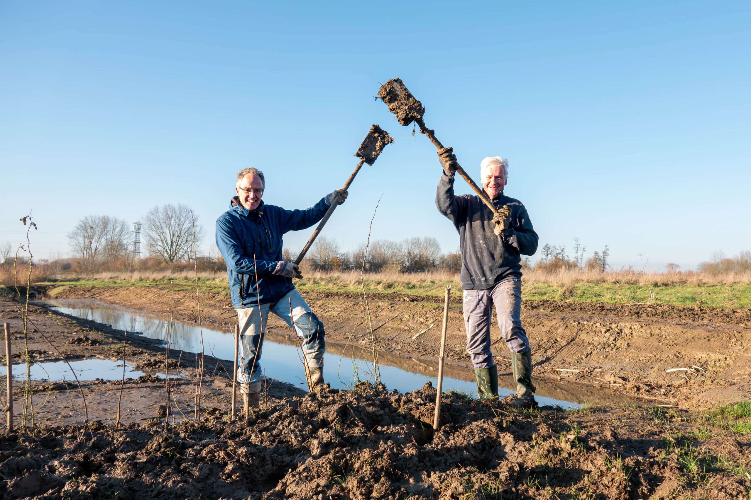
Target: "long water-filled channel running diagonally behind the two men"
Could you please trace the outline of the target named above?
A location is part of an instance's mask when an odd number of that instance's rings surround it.
[[[171,328],[170,349],[192,353],[201,352],[201,333],[195,323],[175,321],[170,325],[170,319],[166,316],[87,299],[50,299],[38,302],[47,304],[61,313],[126,330],[128,334],[140,333],[144,337],[161,340],[162,343],[167,342],[167,334]],[[204,327],[203,333],[207,355],[214,355],[222,360],[234,358],[233,335],[229,331],[217,331]],[[366,361],[369,358],[368,351],[335,343],[327,343],[326,347],[324,379],[332,388],[348,388],[357,378],[372,379],[372,364]],[[269,328],[264,338],[262,355],[261,366],[265,376],[305,388],[300,351],[292,337]],[[122,377],[122,364],[120,364],[120,370]],[[429,380],[433,382],[434,387],[437,385],[437,362],[431,363],[380,352],[379,370],[381,380],[389,390],[415,391]],[[510,374],[501,375],[499,379],[500,397],[514,392],[515,386],[511,387]],[[507,386],[502,387],[503,385]],[[579,408],[584,406],[584,403],[640,404],[636,398],[587,386],[545,382],[539,379],[535,380],[535,385],[538,389],[535,399],[540,405]],[[465,394],[474,395],[476,391],[474,372],[466,367],[445,364],[443,391],[462,391]]]

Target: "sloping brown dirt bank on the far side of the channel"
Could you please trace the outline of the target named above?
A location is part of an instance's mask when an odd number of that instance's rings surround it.
[[[57,289],[58,298],[93,298],[157,313],[197,319],[195,292],[113,287]],[[369,321],[361,295],[307,293],[326,325],[327,340],[368,346]],[[369,295],[376,347],[413,358],[439,352],[442,304],[415,295]],[[201,292],[204,322],[231,328],[236,319],[227,294]],[[495,319],[493,319],[495,321]],[[535,376],[602,385],[680,406],[731,403],[751,394],[751,310],[525,301],[522,322],[532,345]],[[270,328],[290,332],[270,318]],[[497,328],[493,355],[499,373],[511,372],[508,349]],[[469,365],[460,296],[449,311],[446,355]],[[684,369],[674,370],[672,369]],[[504,383],[504,376],[501,376]]]

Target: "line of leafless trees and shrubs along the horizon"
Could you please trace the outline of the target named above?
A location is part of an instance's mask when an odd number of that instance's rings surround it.
[[[206,232],[199,223],[198,215],[185,204],[155,206],[141,218],[142,253],[134,252],[134,232],[131,223],[110,215],[88,215],[81,218],[68,233],[68,241],[74,261],[60,271],[92,272],[101,270],[134,270],[197,262],[204,271],[222,271],[225,263],[213,245],[214,256],[195,255],[206,238]],[[14,261],[11,244],[0,244],[0,263]],[[573,256],[569,256],[566,245],[544,244],[539,250],[540,258],[532,263],[529,257],[523,259],[524,268],[537,271],[559,271],[584,269],[587,271],[608,271],[610,268],[610,248],[595,250],[585,258],[587,247],[579,238],[574,238]],[[640,254],[641,255],[641,254]],[[282,258],[293,261],[296,258],[288,248],[282,251]],[[306,257],[309,266],[323,271],[348,271],[363,269],[367,272],[423,272],[445,270],[458,272],[461,269],[461,255],[458,250],[442,253],[436,238],[413,236],[401,241],[378,239],[360,243],[349,252],[342,250],[336,240],[327,236],[319,237]],[[20,256],[17,263],[26,262]],[[57,266],[59,267],[59,266]],[[668,273],[680,272],[680,265],[669,263]],[[740,252],[737,256],[725,256],[722,251],[712,253],[710,259],[701,262],[698,272],[707,274],[749,273],[751,272],[751,251]]]

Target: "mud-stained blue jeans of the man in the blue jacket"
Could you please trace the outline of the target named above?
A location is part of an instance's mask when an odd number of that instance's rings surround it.
[[[237,367],[237,381],[241,385],[249,385],[250,392],[261,391],[261,346],[264,343],[269,311],[284,319],[290,327],[294,322],[294,330],[302,341],[309,367],[317,368],[324,364],[324,325],[311,312],[297,290],[292,290],[276,304],[237,309],[237,319],[240,322],[240,364]]]

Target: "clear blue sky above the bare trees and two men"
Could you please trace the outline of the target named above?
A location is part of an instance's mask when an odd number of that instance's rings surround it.
[[[372,98],[399,76],[472,175],[508,158],[541,245],[691,268],[751,249],[749,25],[743,1],[2,1],[0,241],[33,209],[37,256],[67,254],[80,217],[184,202],[206,251],[238,170],[306,208],[377,123],[395,143],[324,232],[354,248],[383,194],[372,238],[454,250],[435,148]]]

